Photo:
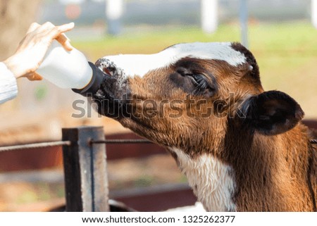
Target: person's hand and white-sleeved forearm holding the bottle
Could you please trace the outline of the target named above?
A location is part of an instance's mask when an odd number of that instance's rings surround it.
[[[0,104],[13,99],[18,94],[16,78],[42,79],[35,70],[42,63],[54,39],[66,50],[73,49],[68,38],[63,34],[73,27],[73,23],[61,26],[54,26],[51,23],[44,23],[44,25],[32,23],[15,54],[6,61],[0,62]]]

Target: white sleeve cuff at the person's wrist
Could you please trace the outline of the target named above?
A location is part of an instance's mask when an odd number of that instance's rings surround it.
[[[0,62],[0,103],[15,98],[18,94],[16,79],[6,65]]]

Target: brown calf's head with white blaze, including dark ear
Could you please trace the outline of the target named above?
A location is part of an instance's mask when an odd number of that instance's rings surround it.
[[[99,113],[189,155],[220,145],[228,123],[271,135],[304,115],[287,94],[263,91],[254,56],[238,43],[175,44],[96,65],[108,74],[94,94]]]

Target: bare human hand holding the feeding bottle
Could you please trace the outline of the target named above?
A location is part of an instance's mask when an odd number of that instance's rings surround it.
[[[56,39],[67,51],[73,49],[68,37],[64,32],[72,30],[74,23],[55,26],[46,22],[43,25],[32,23],[27,34],[20,42],[17,51],[13,56],[4,61],[7,68],[15,77],[27,77],[29,80],[42,80],[42,77],[35,73],[39,68],[47,49]]]

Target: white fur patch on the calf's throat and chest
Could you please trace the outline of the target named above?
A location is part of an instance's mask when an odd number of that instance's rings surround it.
[[[230,166],[209,154],[190,158],[180,149],[170,149],[178,156],[182,172],[207,211],[235,211],[232,201],[235,180],[230,176]]]

